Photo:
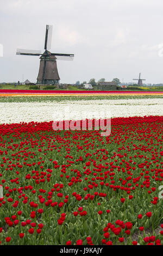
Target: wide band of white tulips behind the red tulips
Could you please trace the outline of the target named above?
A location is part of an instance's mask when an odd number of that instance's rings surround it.
[[[51,121],[51,120],[78,120],[85,118],[111,118],[134,117],[144,115],[163,115],[163,98],[123,98],[116,96],[114,99],[90,99],[77,97],[60,101],[36,100],[33,97],[19,101],[1,101],[0,123],[20,123],[21,121]],[[4,114],[5,113],[5,114]],[[67,114],[66,114],[67,113]]]

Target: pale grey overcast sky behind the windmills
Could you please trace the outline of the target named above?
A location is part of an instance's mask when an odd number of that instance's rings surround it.
[[[36,82],[40,59],[18,56],[17,48],[43,50],[46,24],[53,25],[51,52],[61,83],[142,73],[146,83],[163,83],[162,0],[0,0],[0,82]]]

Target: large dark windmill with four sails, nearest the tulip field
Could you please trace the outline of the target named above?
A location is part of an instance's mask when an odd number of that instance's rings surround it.
[[[37,76],[37,84],[57,84],[60,77],[57,69],[57,60],[73,60],[74,54],[51,53],[52,25],[46,25],[45,51],[17,49],[16,54],[28,56],[40,56],[40,68]]]

